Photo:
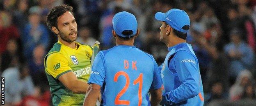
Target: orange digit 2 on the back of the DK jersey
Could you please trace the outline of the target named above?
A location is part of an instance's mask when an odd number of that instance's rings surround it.
[[[120,97],[126,92],[126,90],[128,89],[128,86],[130,84],[130,79],[129,79],[129,76],[126,72],[124,71],[119,71],[115,74],[114,76],[114,82],[117,82],[117,79],[120,75],[123,75],[125,78],[126,78],[126,84],[125,86],[123,87],[123,89],[117,94],[117,97],[115,98],[115,102],[114,104],[115,105],[129,105],[130,104],[130,101],[127,101],[127,100],[119,100]]]

